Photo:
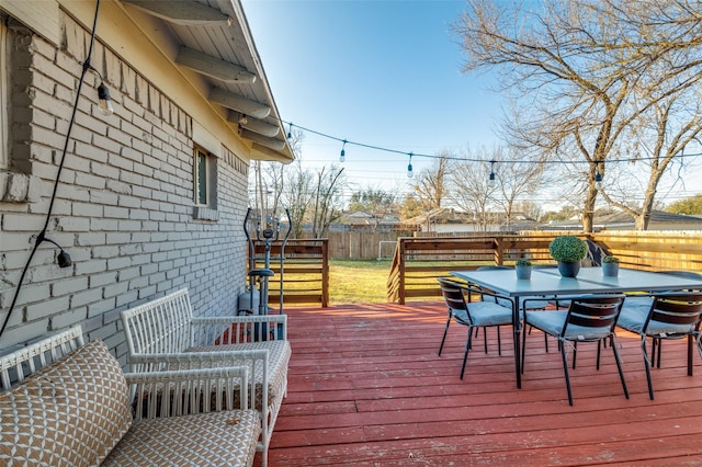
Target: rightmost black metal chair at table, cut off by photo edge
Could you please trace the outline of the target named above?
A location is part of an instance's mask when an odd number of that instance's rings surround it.
[[[646,339],[660,343],[668,339],[688,339],[688,376],[692,376],[692,351],[697,345],[702,357],[700,338],[700,317],[702,316],[702,292],[668,292],[653,296],[652,305],[632,306],[622,309],[618,326],[641,335],[641,350],[646,365],[648,396],[654,400],[654,386],[650,378],[650,366],[656,366],[655,358],[648,358]],[[660,349],[658,349],[658,367],[660,367]]]

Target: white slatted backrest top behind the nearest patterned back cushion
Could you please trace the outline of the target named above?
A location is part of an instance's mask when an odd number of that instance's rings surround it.
[[[19,349],[0,357],[0,388],[10,389],[32,373],[84,345],[80,326]]]

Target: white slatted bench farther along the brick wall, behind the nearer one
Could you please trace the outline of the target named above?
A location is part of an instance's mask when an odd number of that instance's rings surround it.
[[[268,447],[287,391],[287,316],[194,317],[183,288],[122,311],[133,372],[246,365],[254,383],[250,406],[261,413],[258,449]],[[272,332],[271,332],[272,331]]]

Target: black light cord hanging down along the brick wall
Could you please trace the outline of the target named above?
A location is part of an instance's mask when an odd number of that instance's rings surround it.
[[[95,44],[95,26],[98,25],[98,12],[100,11],[100,0],[95,0],[95,16],[93,19],[93,23],[92,23],[92,33],[90,35],[90,47],[88,48],[88,57],[86,57],[86,61],[82,64],[83,68],[82,68],[82,72],[80,73],[80,80],[78,81],[78,89],[76,90],[76,100],[73,101],[73,110],[70,116],[70,122],[68,124],[68,130],[66,132],[66,139],[64,143],[64,150],[61,152],[61,159],[58,163],[58,171],[56,172],[56,179],[54,180],[54,191],[52,192],[52,198],[50,202],[48,204],[48,210],[46,212],[46,221],[44,223],[44,228],[42,229],[42,231],[36,235],[36,236],[32,236],[32,238],[36,237],[36,241],[34,242],[34,248],[32,248],[32,252],[30,253],[30,258],[26,260],[26,264],[24,264],[24,269],[22,270],[22,274],[20,275],[20,282],[18,283],[18,286],[14,291],[14,296],[12,297],[12,303],[10,304],[10,309],[8,310],[8,315],[5,315],[4,317],[4,321],[2,322],[2,328],[0,328],[0,338],[2,338],[2,334],[4,333],[4,330],[8,326],[8,322],[10,322],[10,317],[12,316],[12,311],[14,310],[14,306],[16,305],[18,301],[18,297],[20,296],[20,291],[22,289],[22,284],[24,283],[24,276],[26,275],[27,270],[30,269],[30,265],[32,263],[32,260],[34,259],[34,253],[36,253],[36,250],[39,248],[39,244],[42,244],[42,242],[46,239],[46,229],[48,228],[48,224],[52,219],[52,210],[54,209],[54,202],[56,201],[56,193],[58,191],[58,183],[61,176],[61,171],[64,170],[64,162],[66,161],[66,152],[68,151],[68,143],[70,141],[70,134],[71,130],[73,129],[73,123],[76,122],[76,114],[78,112],[78,101],[80,99],[80,91],[83,87],[83,81],[86,80],[86,73],[88,72],[88,70],[94,70],[97,71],[94,68],[92,68],[92,66],[90,65],[90,58],[92,56],[92,49],[94,47]],[[98,73],[100,75],[100,73]],[[54,243],[52,240],[48,240],[52,243]]]

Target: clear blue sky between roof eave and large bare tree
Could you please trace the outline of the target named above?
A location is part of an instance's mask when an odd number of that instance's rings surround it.
[[[451,31],[465,3],[244,0],[281,117],[348,144],[360,186],[407,184],[407,153],[490,146],[501,114],[486,77],[461,72]],[[305,133],[309,168],[339,163],[340,141]],[[432,159],[412,157],[418,172]]]

